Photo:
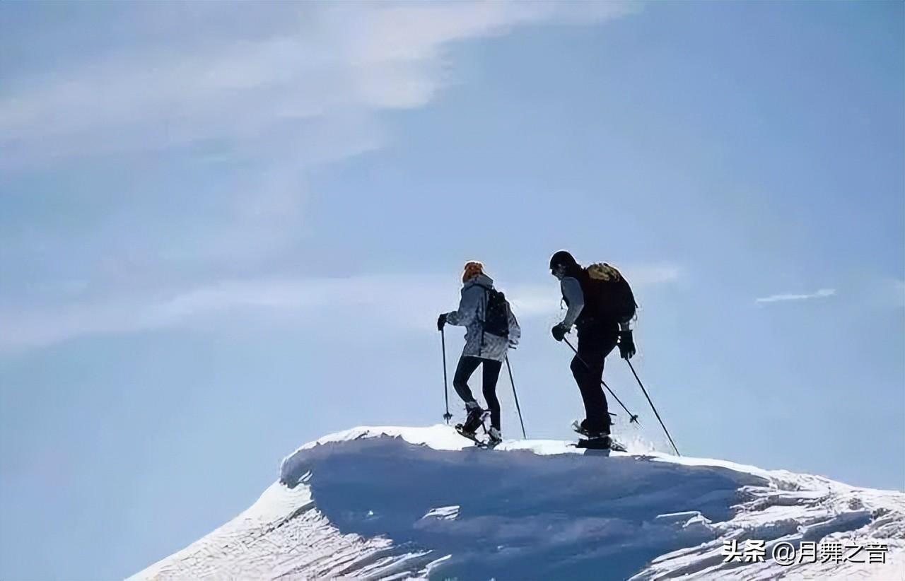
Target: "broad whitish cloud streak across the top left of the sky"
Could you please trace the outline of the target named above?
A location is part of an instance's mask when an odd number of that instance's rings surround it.
[[[372,142],[368,112],[423,107],[449,81],[445,49],[530,24],[588,24],[627,14],[623,3],[373,3],[265,5],[252,38],[221,22],[261,12],[204,3],[214,24],[154,35],[184,11],[164,3],[130,24],[138,45],[7,83],[0,92],[5,163],[220,140],[237,156],[296,146],[295,163],[354,154]],[[147,9],[147,8],[146,8]],[[266,11],[264,11],[266,14]],[[152,24],[146,24],[146,22]],[[204,27],[204,21],[198,19]],[[223,30],[224,32],[219,32]],[[195,40],[195,35],[204,39]],[[148,40],[148,38],[155,40]],[[333,129],[364,121],[360,133]],[[312,123],[327,143],[310,143]],[[347,128],[348,129],[348,128]],[[379,133],[379,130],[376,131]],[[312,155],[313,154],[313,155]]]

